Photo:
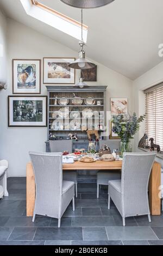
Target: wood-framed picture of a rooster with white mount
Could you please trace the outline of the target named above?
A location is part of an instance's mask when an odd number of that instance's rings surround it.
[[[12,59],[12,93],[41,93],[40,59]]]

